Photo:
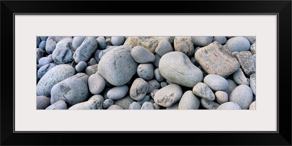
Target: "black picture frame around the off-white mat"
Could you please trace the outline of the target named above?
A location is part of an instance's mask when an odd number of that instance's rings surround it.
[[[141,3],[143,5],[141,5]],[[172,7],[160,3],[170,3]],[[291,145],[292,1],[1,1],[1,145]],[[131,7],[132,6],[132,7]],[[14,133],[14,13],[277,13],[276,133]],[[12,81],[13,79],[13,81]],[[286,88],[287,87],[287,88]],[[24,98],[30,98],[25,97]],[[45,123],[48,124],[49,123]],[[164,139],[164,136],[169,137]],[[58,140],[60,138],[61,140]],[[93,138],[93,139],[91,139]],[[108,138],[116,138],[111,140]]]

